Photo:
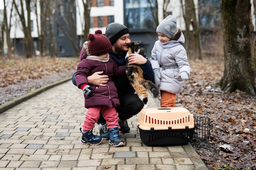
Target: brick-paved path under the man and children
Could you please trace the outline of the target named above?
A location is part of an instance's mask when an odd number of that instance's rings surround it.
[[[190,143],[146,146],[136,126],[139,114],[128,119],[130,132],[121,134],[124,147],[106,140],[81,144],[87,109],[70,79],[28,96],[0,106],[0,170],[208,170]],[[148,100],[148,108],[159,107],[158,99]]]

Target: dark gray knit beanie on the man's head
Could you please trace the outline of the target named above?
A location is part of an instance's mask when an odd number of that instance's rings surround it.
[[[129,29],[123,24],[119,24],[117,22],[112,22],[107,25],[105,35],[110,40],[111,44],[114,44],[118,38],[122,35],[129,33]]]

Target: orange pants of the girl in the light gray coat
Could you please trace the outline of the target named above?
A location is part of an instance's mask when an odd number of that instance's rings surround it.
[[[175,107],[176,94],[167,91],[160,91],[161,94],[161,107]]]

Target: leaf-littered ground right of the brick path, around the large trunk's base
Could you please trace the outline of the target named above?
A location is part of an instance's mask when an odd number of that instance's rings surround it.
[[[190,80],[184,83],[177,106],[211,122],[209,141],[193,139],[192,146],[210,170],[256,170],[256,97],[221,91],[224,61],[190,64]]]

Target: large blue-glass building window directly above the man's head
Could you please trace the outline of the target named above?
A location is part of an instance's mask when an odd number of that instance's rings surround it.
[[[155,29],[155,21],[153,19],[150,4],[155,10],[155,0],[125,0],[125,17],[124,24],[130,30],[138,29]]]

